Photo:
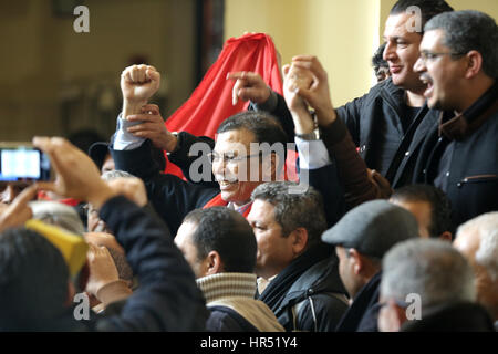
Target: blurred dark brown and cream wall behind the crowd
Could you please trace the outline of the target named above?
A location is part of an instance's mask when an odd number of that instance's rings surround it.
[[[498,18],[497,0],[447,0]],[[168,117],[191,94],[224,42],[270,34],[282,64],[318,55],[341,105],[369,91],[370,60],[395,0],[0,0],[0,140],[106,140],[121,111],[120,75],[147,63],[162,73],[154,103]],[[76,33],[77,6],[90,32]]]

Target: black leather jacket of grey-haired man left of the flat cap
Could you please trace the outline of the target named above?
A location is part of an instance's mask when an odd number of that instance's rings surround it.
[[[286,331],[332,332],[347,310],[338,259],[328,246],[297,258],[259,296]]]

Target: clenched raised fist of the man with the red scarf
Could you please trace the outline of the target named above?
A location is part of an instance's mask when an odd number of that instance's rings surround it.
[[[123,93],[123,119],[131,114],[141,113],[141,108],[157,92],[160,74],[154,66],[132,65],[121,74]]]

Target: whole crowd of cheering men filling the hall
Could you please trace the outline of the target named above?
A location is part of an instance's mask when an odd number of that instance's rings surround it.
[[[497,331],[498,27],[400,0],[384,40],[341,107],[312,55],[283,95],[231,73],[252,104],[216,139],[169,132],[159,72],[126,67],[110,142],[34,137],[55,179],[2,186],[0,331]]]

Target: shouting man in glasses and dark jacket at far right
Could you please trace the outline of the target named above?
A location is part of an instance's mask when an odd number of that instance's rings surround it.
[[[442,114],[424,142],[415,181],[446,192],[458,225],[498,210],[498,28],[478,11],[443,13],[425,27],[415,71]]]

